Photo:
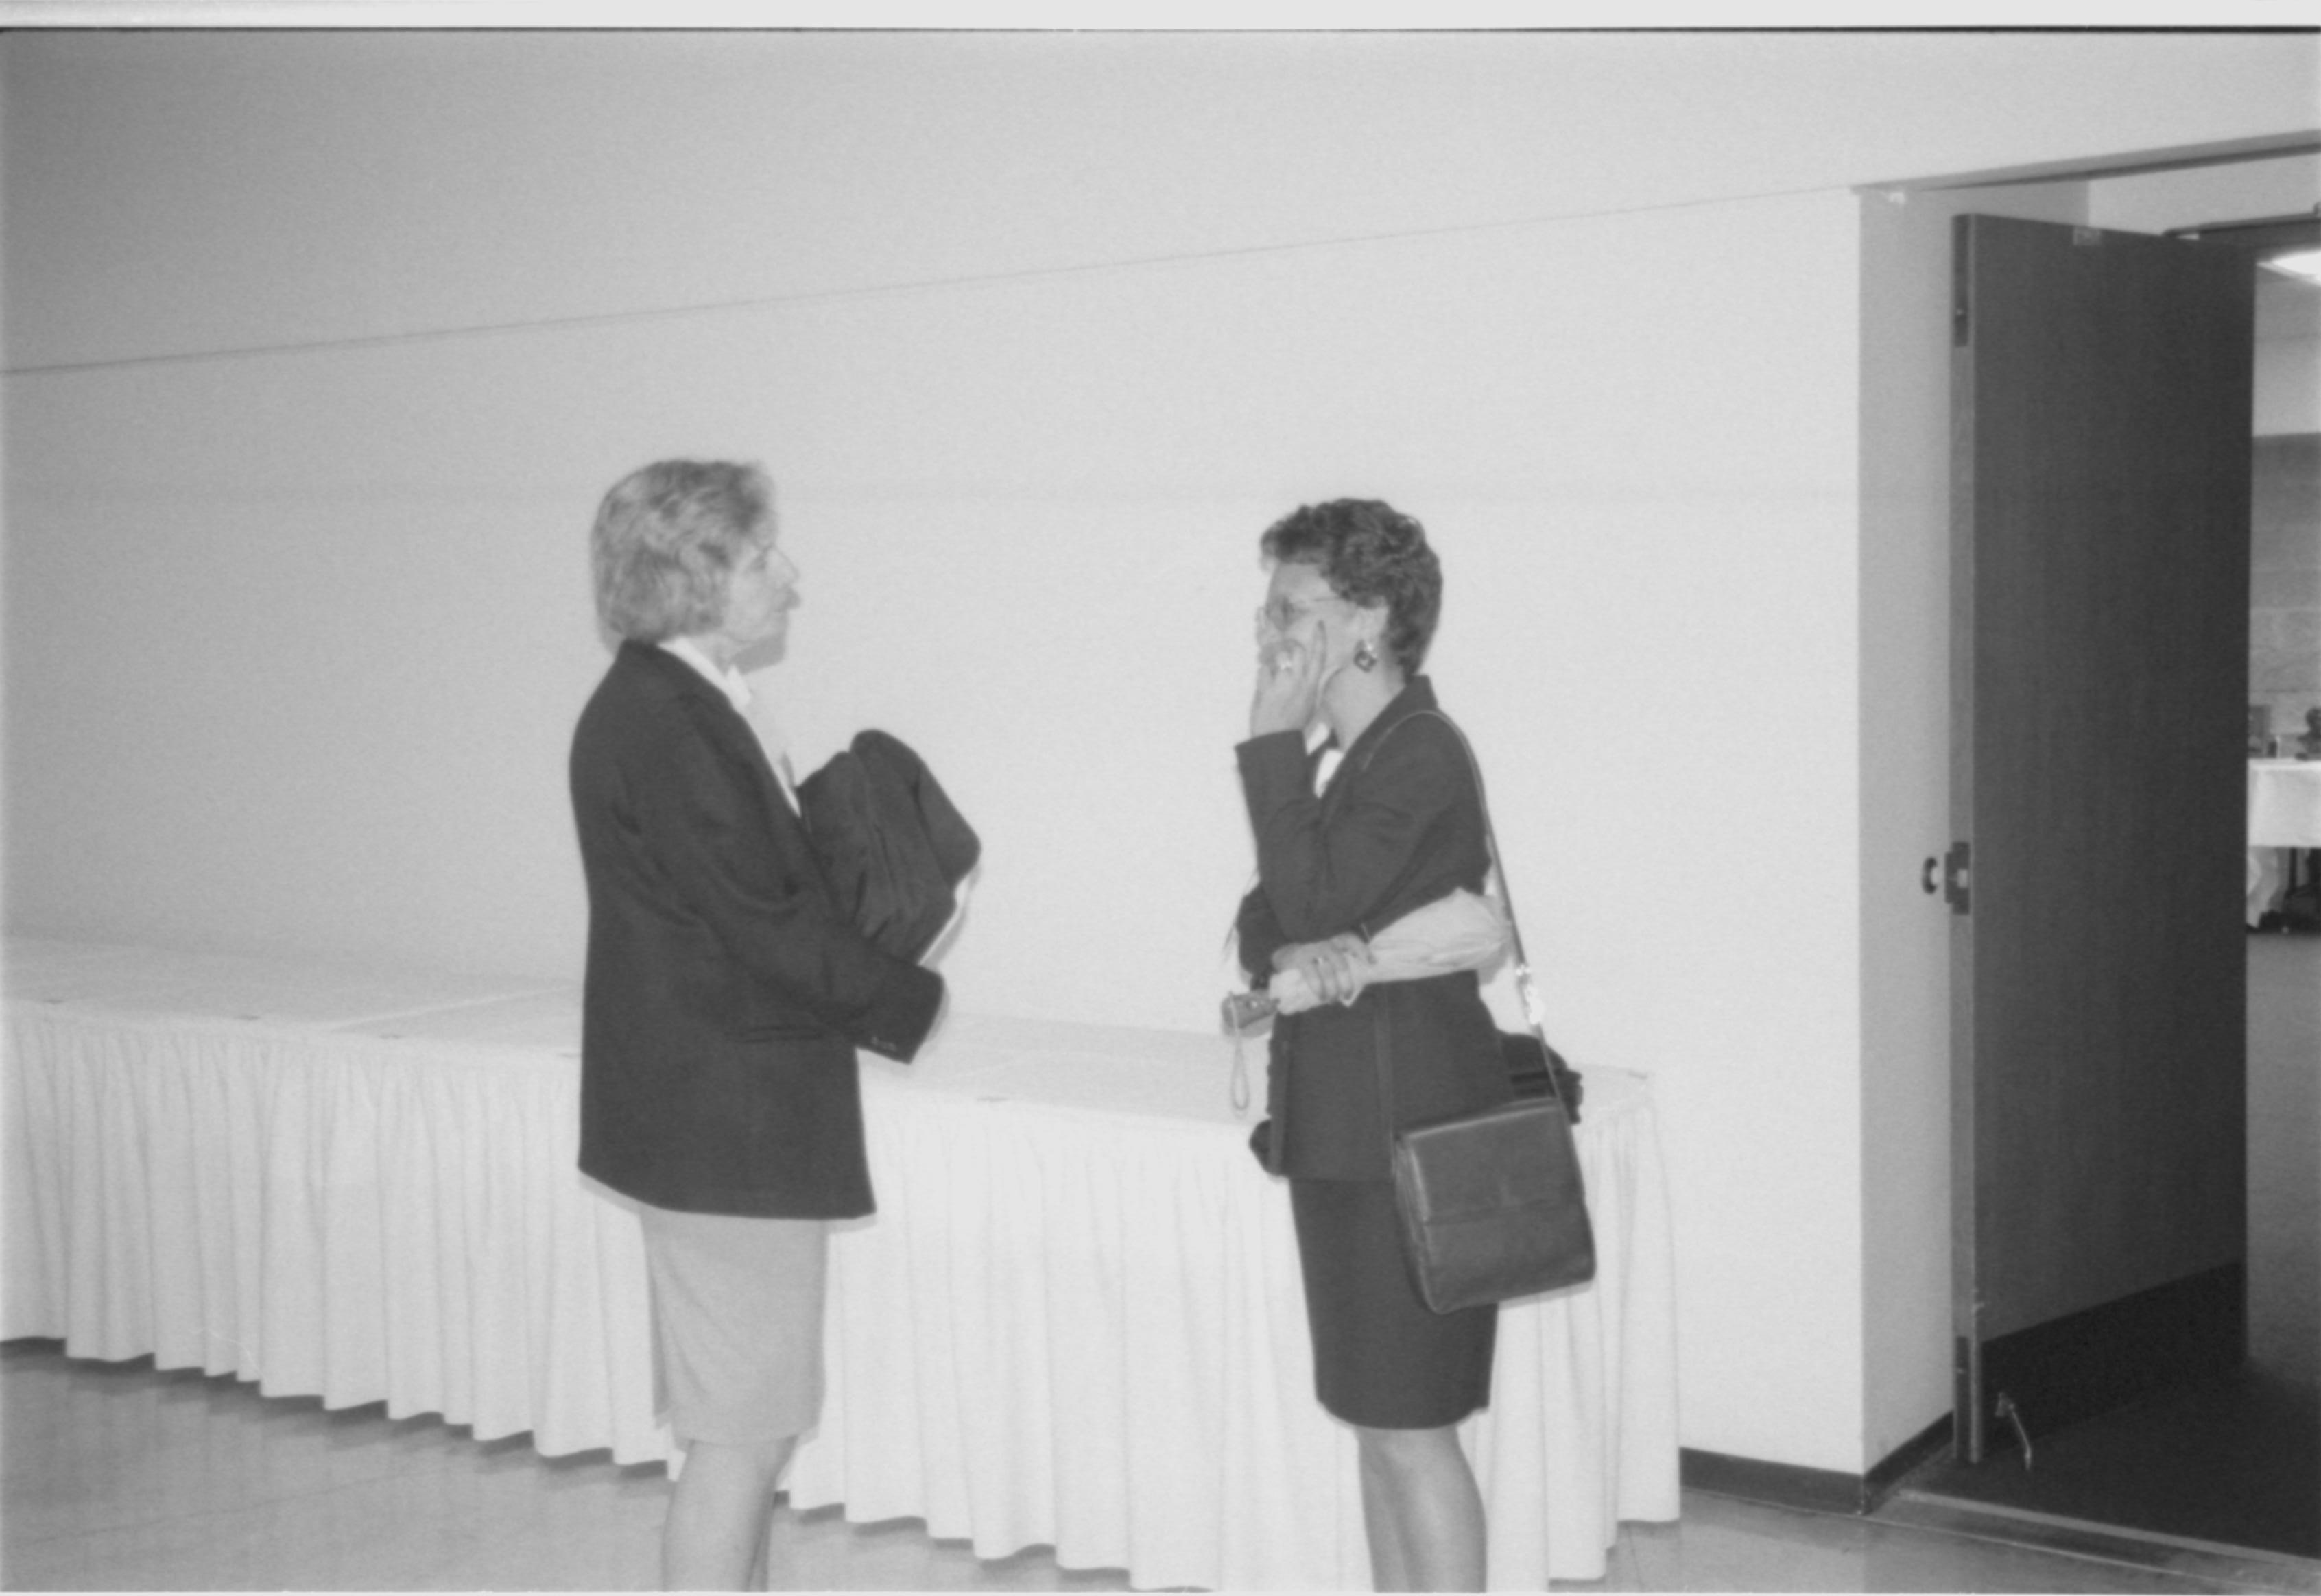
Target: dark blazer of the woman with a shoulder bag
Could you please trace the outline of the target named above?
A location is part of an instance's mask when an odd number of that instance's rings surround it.
[[[1286,942],[1372,935],[1490,872],[1483,800],[1458,731],[1413,677],[1314,796],[1318,752],[1290,731],[1242,742],[1242,796],[1258,842],[1258,886],[1237,919],[1242,965],[1272,974]],[[1472,970],[1383,981],[1353,1004],[1274,1021],[1267,1113],[1277,1174],[1383,1181],[1388,1118],[1379,1055],[1393,1060],[1393,1125],[1509,1102],[1499,1030]]]

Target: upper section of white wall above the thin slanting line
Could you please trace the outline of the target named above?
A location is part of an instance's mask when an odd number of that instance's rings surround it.
[[[9,364],[2293,132],[2263,35],[14,32]]]

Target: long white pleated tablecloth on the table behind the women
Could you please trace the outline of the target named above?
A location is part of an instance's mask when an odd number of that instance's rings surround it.
[[[5,1325],[84,1357],[668,1454],[634,1216],[578,1178],[576,1000],[536,984],[12,942]],[[1253,1060],[1263,1069],[1263,1060]],[[831,1253],[801,1508],[1054,1545],[1142,1587],[1367,1587],[1286,1192],[1221,1039],[954,1016],[863,1065],[875,1220]],[[1650,1095],[1588,1072],[1599,1278],[1499,1318],[1469,1422],[1495,1589],[1671,1519]]]

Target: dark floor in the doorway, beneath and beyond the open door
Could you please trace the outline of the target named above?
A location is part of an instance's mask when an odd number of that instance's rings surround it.
[[[2049,1526],[2321,1557],[2321,1325],[2312,1290],[2321,1253],[2321,940],[2256,935],[2242,956],[2249,1362],[2052,1431],[2019,1429],[1980,1464],[1922,1468],[1913,1496]]]

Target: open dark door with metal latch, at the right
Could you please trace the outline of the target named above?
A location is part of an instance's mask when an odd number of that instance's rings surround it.
[[[2237,1364],[2251,269],[1964,216],[1957,1448]]]

